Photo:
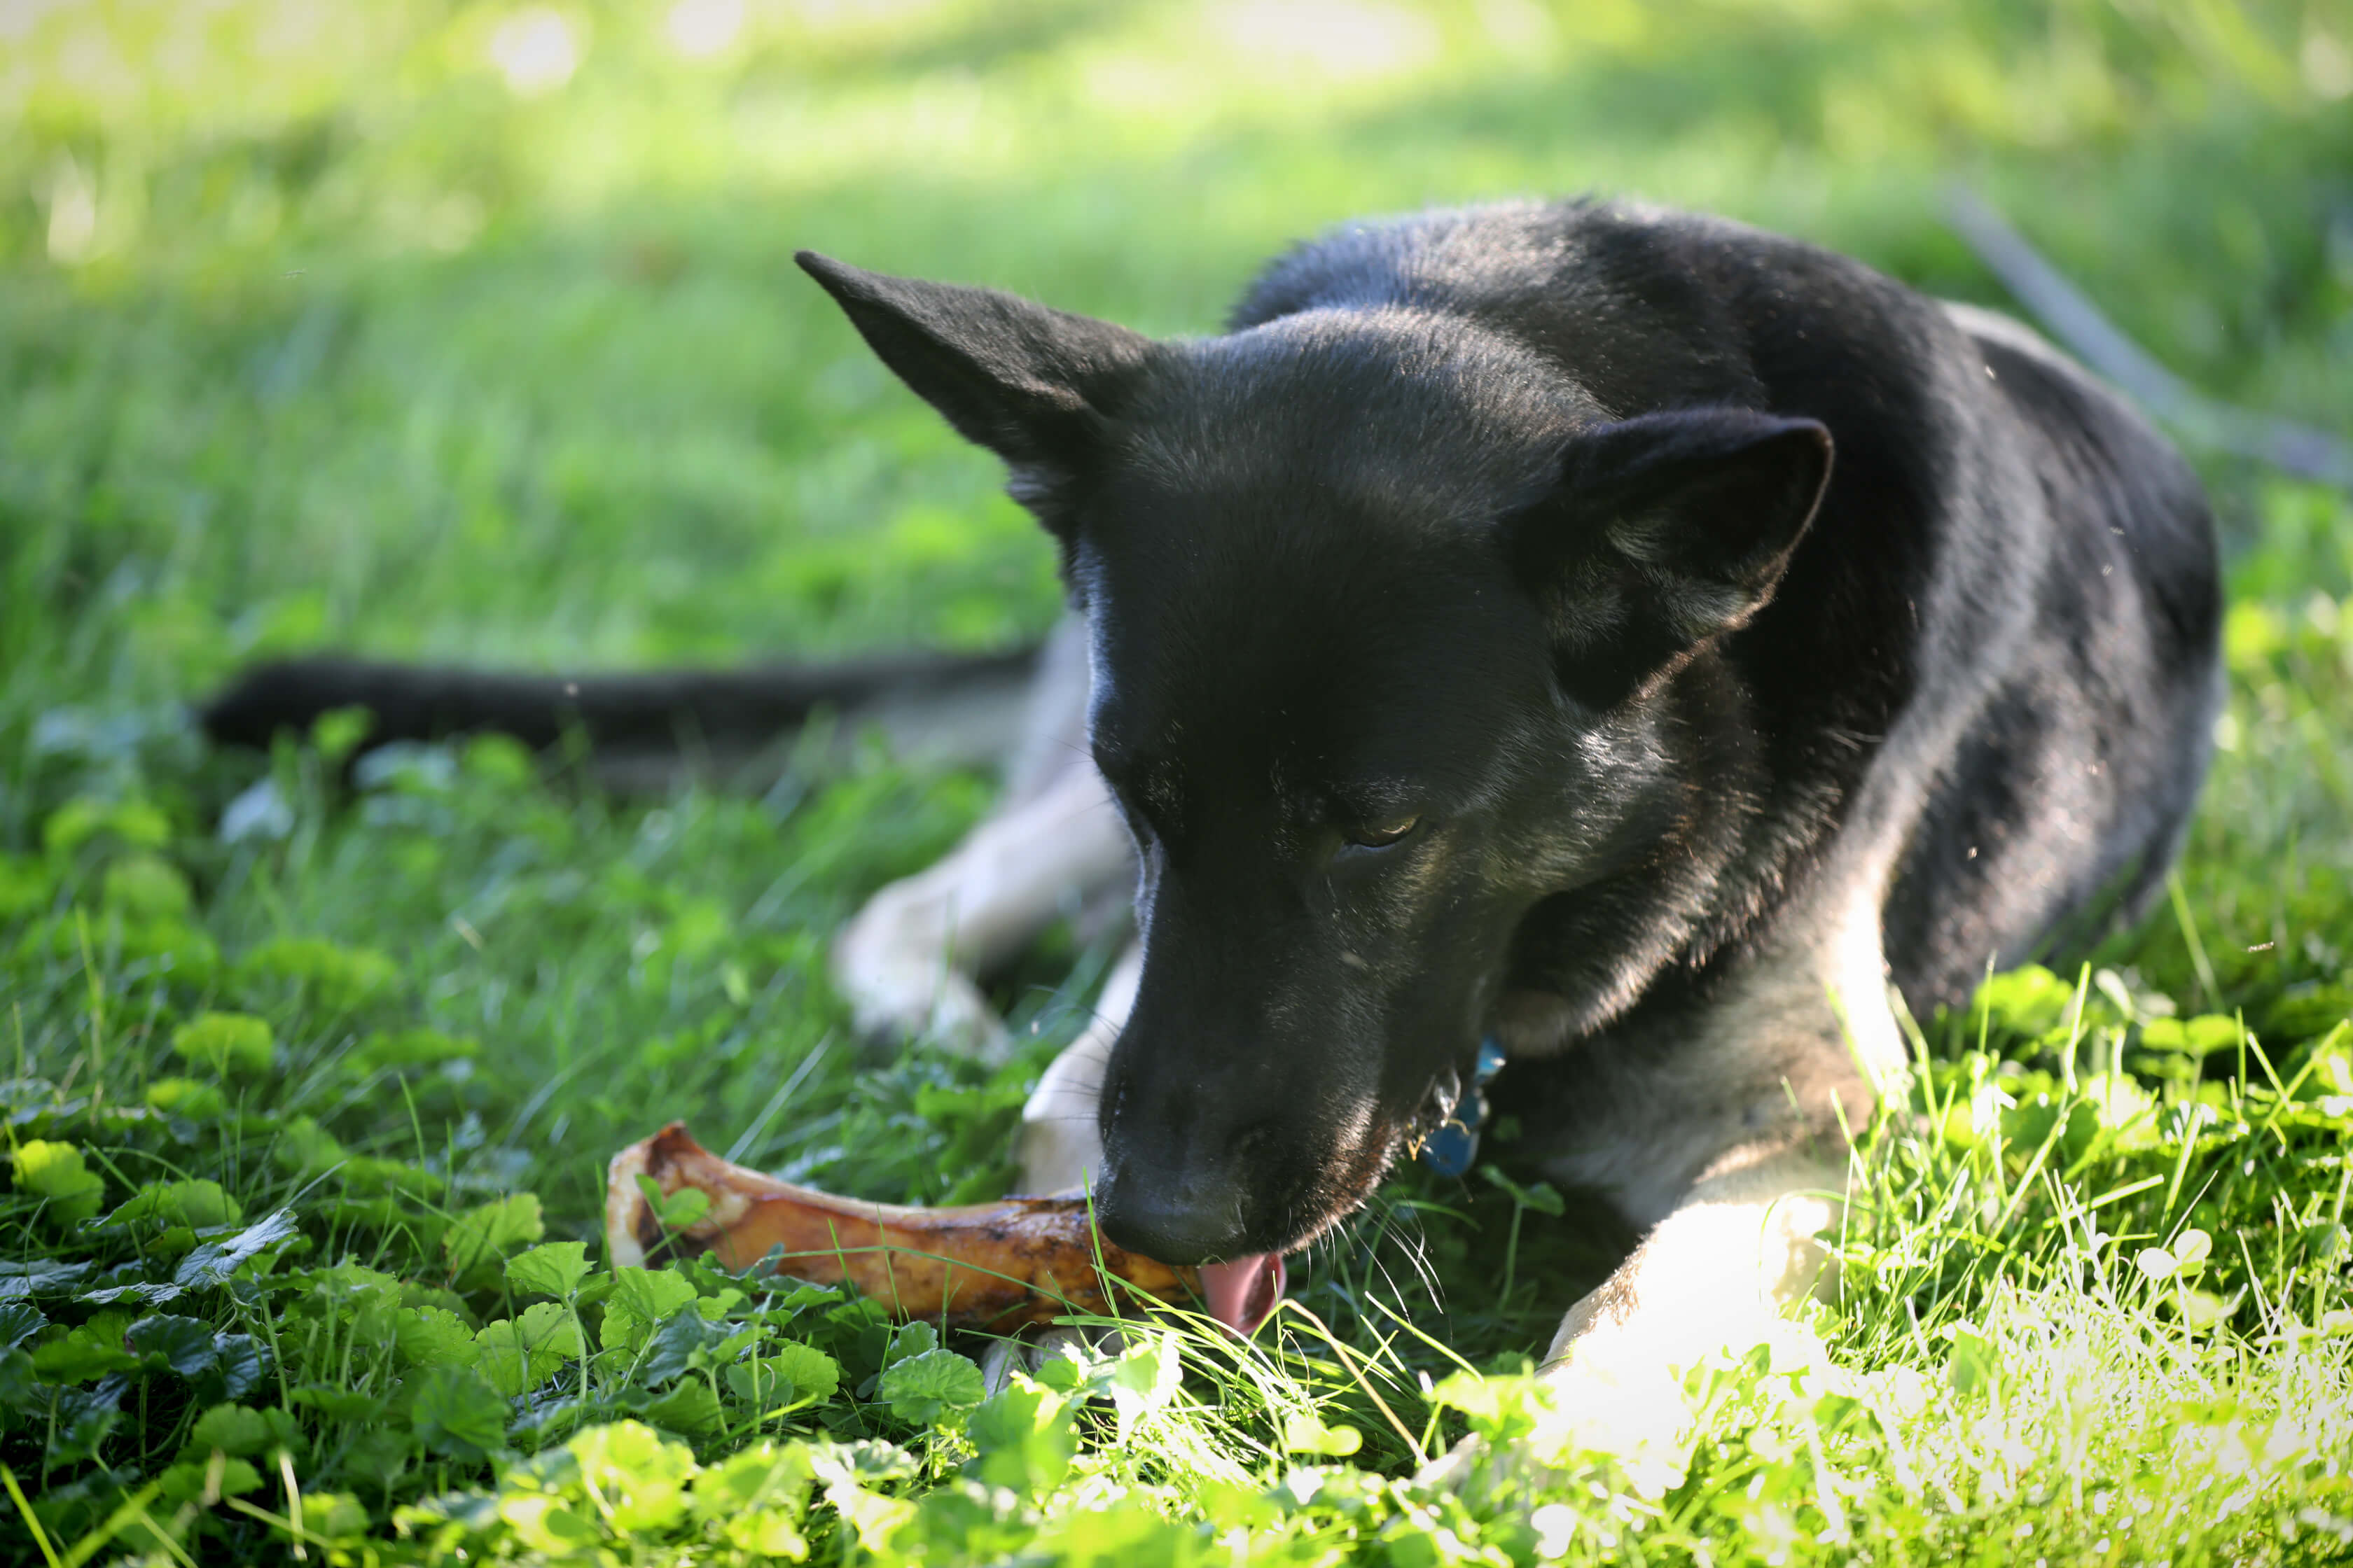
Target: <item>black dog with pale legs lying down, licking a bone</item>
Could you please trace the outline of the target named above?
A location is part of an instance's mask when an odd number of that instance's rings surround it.
[[[1598,200],[1344,226],[1193,341],[800,266],[1005,461],[1071,599],[1033,764],[847,926],[840,990],[1000,1051],[974,976],[1132,886],[1026,1178],[1202,1265],[1235,1328],[1485,1105],[1642,1234],[1546,1375],[1657,1399],[1821,1286],[1847,1135],[1906,1081],[1894,999],[2129,919],[2181,844],[2219,698],[2207,503],[2000,315]],[[852,696],[984,677],[958,670]],[[431,686],[409,731],[569,705],[595,741],[612,696],[499,712],[485,679],[280,668],[209,722]],[[720,729],[675,682],[628,698],[638,731]]]

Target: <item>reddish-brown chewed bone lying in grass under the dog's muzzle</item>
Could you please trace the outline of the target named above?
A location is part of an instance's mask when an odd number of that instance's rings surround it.
[[[692,1187],[711,1208],[666,1229],[640,1175],[664,1199]],[[605,1246],[614,1267],[642,1267],[659,1251],[711,1253],[729,1269],[767,1262],[795,1279],[849,1284],[899,1319],[993,1333],[1071,1314],[1113,1316],[1134,1293],[1172,1302],[1198,1293],[1193,1269],[1096,1237],[1085,1199],[864,1204],[732,1166],[694,1143],[682,1121],[612,1157]]]

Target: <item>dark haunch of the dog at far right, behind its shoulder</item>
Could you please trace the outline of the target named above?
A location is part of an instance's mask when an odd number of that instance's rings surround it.
[[[2061,527],[2031,581],[2035,637],[1929,783],[1887,900],[1887,957],[1915,1006],[2146,907],[2221,698],[2221,585],[2195,475],[2042,339],[1986,310],[1951,315]]]

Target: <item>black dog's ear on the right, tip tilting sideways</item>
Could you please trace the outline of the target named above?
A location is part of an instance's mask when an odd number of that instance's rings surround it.
[[[1504,531],[1569,693],[1609,708],[1748,621],[1828,482],[1812,418],[1682,409],[1579,435],[1560,484]]]

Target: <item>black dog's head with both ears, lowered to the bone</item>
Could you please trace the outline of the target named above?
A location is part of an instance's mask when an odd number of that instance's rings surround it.
[[[1819,423],[1609,418],[1553,357],[1409,306],[1155,343],[802,266],[1007,461],[1089,618],[1094,755],[1144,865],[1101,1095],[1115,1241],[1313,1239],[1501,1013],[1591,1027],[1664,961],[1614,893],[1689,858],[1659,693],[1772,595],[1828,477]],[[1515,936],[1562,900],[1591,952],[1532,1004]]]

